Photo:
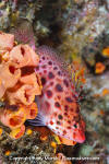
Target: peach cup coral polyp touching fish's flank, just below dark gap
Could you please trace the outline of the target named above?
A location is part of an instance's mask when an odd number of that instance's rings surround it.
[[[38,79],[35,72],[29,75],[21,77],[20,82],[22,82],[23,85],[17,84],[17,90],[13,87],[13,91],[7,92],[10,104],[21,102],[24,105],[31,105],[35,99],[35,95],[41,94],[41,85],[39,85]]]

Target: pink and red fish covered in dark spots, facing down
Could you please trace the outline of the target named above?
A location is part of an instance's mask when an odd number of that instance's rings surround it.
[[[31,125],[46,125],[55,133],[76,142],[85,141],[85,124],[80,115],[77,94],[57,54],[47,46],[38,48],[36,73],[41,77],[43,94],[37,97],[38,116]]]

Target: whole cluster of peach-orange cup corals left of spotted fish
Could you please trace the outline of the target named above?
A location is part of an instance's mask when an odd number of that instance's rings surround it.
[[[34,68],[38,55],[28,45],[16,45],[14,35],[0,32],[0,121],[14,139],[24,134],[26,119],[37,116],[35,95],[41,94],[41,82]],[[4,58],[7,54],[7,58]]]

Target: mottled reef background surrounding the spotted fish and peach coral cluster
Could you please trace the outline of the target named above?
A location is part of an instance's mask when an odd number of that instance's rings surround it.
[[[75,66],[75,75],[82,77],[80,105],[86,140],[81,144],[61,144],[45,127],[26,124],[26,132],[14,140],[7,134],[10,129],[0,124],[0,164],[108,164],[109,1],[0,1],[0,31],[11,33],[23,20],[33,28],[36,49],[41,45],[52,47],[69,66]],[[68,159],[62,161],[56,156]]]

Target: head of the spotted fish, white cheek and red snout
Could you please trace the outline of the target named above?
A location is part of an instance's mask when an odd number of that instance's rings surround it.
[[[77,109],[76,109],[77,110]],[[81,114],[71,113],[69,109],[64,113],[58,113],[58,117],[53,117],[49,128],[55,131],[58,136],[64,139],[83,143],[85,141],[85,121]]]

